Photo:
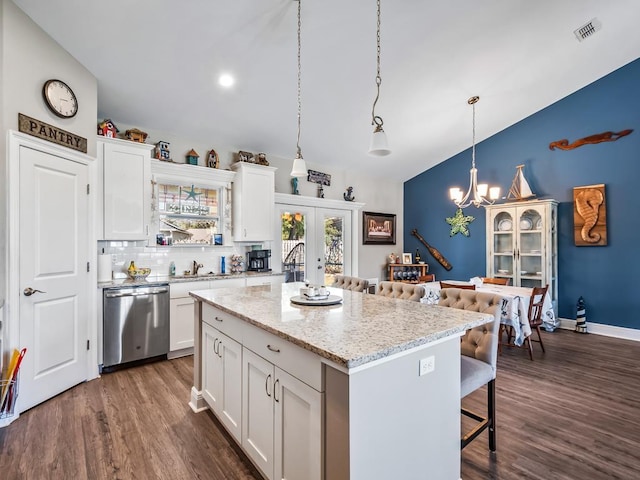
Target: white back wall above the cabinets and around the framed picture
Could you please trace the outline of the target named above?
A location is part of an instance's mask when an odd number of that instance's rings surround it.
[[[107,116],[107,118],[109,118]],[[100,118],[99,120],[102,120]],[[204,166],[206,163],[209,150],[213,149],[218,153],[220,158],[220,168],[229,169],[230,165],[236,161],[236,154],[242,150],[242,145],[218,145],[212,143],[209,139],[196,139],[178,137],[171,132],[158,131],[145,128],[144,125],[130,125],[119,121],[117,118],[111,120],[120,130],[120,135],[124,135],[125,131],[131,128],[139,128],[148,133],[147,143],[155,144],[163,140],[170,142],[171,158],[174,162],[185,163],[186,154],[192,148],[200,155],[198,165]],[[257,154],[259,152],[252,152]],[[270,166],[276,167],[275,190],[277,193],[292,193],[291,172],[292,158],[295,152],[292,150],[291,159],[275,157],[267,154],[267,160]],[[386,259],[387,256],[394,252],[402,253],[402,245],[404,237],[402,233],[403,223],[403,184],[399,181],[389,181],[368,176],[366,173],[358,171],[347,171],[341,169],[326,168],[320,163],[316,163],[312,158],[305,158],[307,168],[331,175],[331,185],[324,187],[324,196],[332,200],[344,200],[343,194],[347,187],[353,187],[353,195],[357,202],[365,203],[364,211],[393,213],[396,215],[396,244],[395,245],[363,245],[362,244],[362,226],[358,232],[358,275],[363,278],[385,279],[386,275]],[[388,161],[383,158],[371,157],[372,162]],[[305,178],[299,180],[298,190],[300,195],[317,197],[318,190],[315,183],[307,182]],[[361,224],[362,224],[362,219]],[[266,246],[265,248],[269,248]],[[242,252],[238,252],[242,253]]]

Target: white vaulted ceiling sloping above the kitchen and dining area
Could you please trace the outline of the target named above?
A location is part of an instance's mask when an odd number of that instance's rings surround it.
[[[469,97],[481,141],[640,56],[637,0],[381,0],[372,157],[376,2],[301,1],[305,159],[398,180],[471,146]],[[101,118],[295,155],[297,1],[14,2],[97,77]]]

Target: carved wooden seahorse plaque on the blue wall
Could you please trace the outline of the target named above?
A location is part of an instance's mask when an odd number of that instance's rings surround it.
[[[604,184],[573,188],[573,230],[576,246],[607,244]]]

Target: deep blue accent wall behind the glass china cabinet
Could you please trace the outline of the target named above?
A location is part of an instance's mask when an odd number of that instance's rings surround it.
[[[537,198],[558,201],[558,314],[575,319],[578,297],[587,322],[640,329],[640,59],[563,98],[476,145],[478,180],[506,195],[524,173]],[[480,103],[480,107],[482,104]],[[484,112],[483,115],[490,115]],[[615,142],[550,150],[553,141],[574,142],[602,133],[633,132]],[[438,280],[483,276],[485,210],[467,207],[471,235],[449,236],[445,218],[456,207],[449,187],[466,192],[471,148],[404,184],[404,251],[420,249]],[[573,238],[573,187],[605,184],[608,245],[577,247]],[[413,229],[453,265],[445,270],[411,235]]]

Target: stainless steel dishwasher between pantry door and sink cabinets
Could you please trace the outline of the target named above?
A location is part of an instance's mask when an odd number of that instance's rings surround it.
[[[169,284],[105,288],[103,371],[169,352]]]

